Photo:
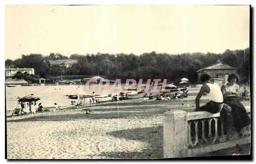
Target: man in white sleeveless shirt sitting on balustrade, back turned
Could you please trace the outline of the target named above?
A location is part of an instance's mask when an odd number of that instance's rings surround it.
[[[217,83],[212,83],[208,74],[203,74],[200,80],[203,86],[196,97],[196,111],[219,113],[223,108],[223,95],[220,86]],[[204,93],[206,93],[209,102],[200,107],[200,98]]]

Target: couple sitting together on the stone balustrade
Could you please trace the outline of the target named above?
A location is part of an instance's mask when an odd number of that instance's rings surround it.
[[[236,74],[228,76],[228,83],[220,87],[217,83],[210,81],[210,75],[203,74],[201,76],[202,87],[196,97],[196,110],[207,111],[212,114],[219,113],[222,118],[231,115],[233,118],[233,126],[238,132],[239,136],[243,135],[241,129],[250,125],[250,118],[246,112],[246,108],[240,102],[239,96],[239,78]],[[200,106],[200,98],[206,94],[209,102]],[[226,124],[231,124],[226,122]]]

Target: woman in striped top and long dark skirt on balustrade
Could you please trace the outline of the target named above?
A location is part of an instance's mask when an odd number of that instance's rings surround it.
[[[239,85],[237,85],[239,78],[236,74],[230,74],[227,81],[228,83],[221,87],[223,102],[232,108],[234,128],[236,128],[239,135],[242,135],[241,129],[250,125],[250,118],[244,105],[239,100]]]

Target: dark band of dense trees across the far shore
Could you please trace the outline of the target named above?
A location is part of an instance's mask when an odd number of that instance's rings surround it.
[[[59,65],[51,66],[48,60],[73,59],[76,64],[63,68]],[[7,59],[6,67],[34,68],[35,74],[43,78],[65,75],[100,75],[109,79],[115,78],[167,78],[175,82],[182,77],[188,78],[191,83],[197,83],[197,71],[218,63],[236,67],[242,83],[249,79],[249,48],[230,50],[223,53],[181,53],[167,54],[143,53],[139,56],[131,54],[71,54],[68,58],[59,53],[50,53],[49,56],[42,54],[22,55],[16,60]]]

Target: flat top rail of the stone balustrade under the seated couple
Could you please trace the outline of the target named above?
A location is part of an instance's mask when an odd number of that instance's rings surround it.
[[[250,105],[245,106],[246,112],[250,113],[251,112],[251,107]],[[187,113],[187,121],[189,120],[200,120],[200,119],[208,119],[208,118],[215,118],[215,117],[220,117],[220,113],[217,114],[211,114],[206,111],[201,111],[201,112],[188,112]]]

